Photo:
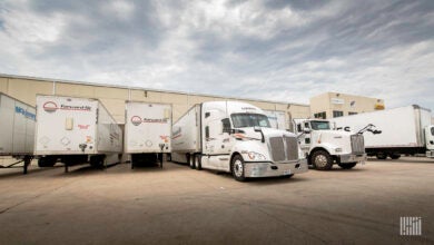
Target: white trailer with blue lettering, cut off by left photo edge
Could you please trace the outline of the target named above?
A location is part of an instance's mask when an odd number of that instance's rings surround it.
[[[0,156],[18,159],[1,167],[22,163],[27,174],[33,158],[34,120],[34,107],[0,92]]]

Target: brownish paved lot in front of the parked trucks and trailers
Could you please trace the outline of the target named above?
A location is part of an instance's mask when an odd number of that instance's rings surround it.
[[[0,244],[433,244],[434,159],[239,183],[164,169],[0,169]],[[422,236],[400,236],[400,217]]]

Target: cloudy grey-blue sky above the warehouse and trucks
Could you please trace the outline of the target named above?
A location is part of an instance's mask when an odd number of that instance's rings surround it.
[[[433,0],[0,0],[0,72],[434,110]]]

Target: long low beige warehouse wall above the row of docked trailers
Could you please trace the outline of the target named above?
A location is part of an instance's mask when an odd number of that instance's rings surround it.
[[[10,75],[0,75],[0,91],[29,105],[36,105],[36,95],[96,98],[106,106],[119,125],[125,124],[126,100],[171,104],[174,121],[183,116],[193,105],[215,100],[239,100],[249,102],[266,110],[285,111],[287,121],[286,128],[290,127],[289,121],[293,118],[307,118],[310,115],[309,106],[300,104],[241,99],[234,97]]]

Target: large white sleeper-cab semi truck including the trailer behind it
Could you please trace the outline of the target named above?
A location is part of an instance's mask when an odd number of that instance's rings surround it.
[[[239,182],[307,171],[296,136],[270,128],[264,111],[245,102],[191,107],[174,124],[171,143],[174,161],[231,173]]]

